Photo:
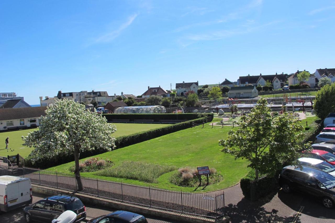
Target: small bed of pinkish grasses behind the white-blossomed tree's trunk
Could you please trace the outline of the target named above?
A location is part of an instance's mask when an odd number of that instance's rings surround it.
[[[84,162],[79,163],[79,171],[80,172],[94,172],[103,170],[105,168],[109,168],[113,166],[113,162],[109,159],[101,159],[99,157],[86,159]],[[74,172],[75,166],[71,166],[69,168],[71,172]]]

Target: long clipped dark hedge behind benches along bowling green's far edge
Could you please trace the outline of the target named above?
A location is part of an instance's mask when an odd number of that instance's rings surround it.
[[[129,119],[134,121],[135,119],[149,119],[154,122],[159,120],[193,120],[198,117],[198,114],[194,113],[183,113],[183,114],[103,114],[107,121],[111,122],[112,119]]]

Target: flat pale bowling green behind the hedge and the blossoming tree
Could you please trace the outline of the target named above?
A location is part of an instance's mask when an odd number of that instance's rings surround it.
[[[133,123],[113,123],[116,125],[117,131],[113,133],[114,137],[123,135],[130,135],[136,132],[147,131],[153,128],[160,128],[169,124],[133,124]],[[14,155],[19,153],[21,156],[26,157],[30,154],[33,148],[23,146],[21,136],[26,136],[28,132],[36,129],[24,129],[11,132],[0,132],[0,156]],[[5,139],[9,136],[9,146],[11,149],[6,148]]]

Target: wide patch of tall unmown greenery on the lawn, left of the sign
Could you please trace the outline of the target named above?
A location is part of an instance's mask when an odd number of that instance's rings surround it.
[[[157,183],[157,178],[165,173],[176,170],[176,166],[160,165],[138,161],[124,161],[113,168],[98,171],[94,175],[119,177],[148,183]]]

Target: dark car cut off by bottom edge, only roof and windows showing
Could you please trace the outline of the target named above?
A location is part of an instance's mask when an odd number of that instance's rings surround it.
[[[93,218],[88,223],[147,223],[144,216],[129,211],[114,211],[108,215]]]

